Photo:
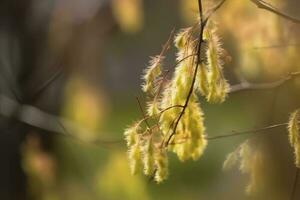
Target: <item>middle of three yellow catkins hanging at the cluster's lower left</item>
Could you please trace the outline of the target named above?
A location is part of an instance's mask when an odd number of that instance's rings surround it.
[[[144,174],[152,175],[154,172],[154,145],[152,139],[148,139],[143,146]]]

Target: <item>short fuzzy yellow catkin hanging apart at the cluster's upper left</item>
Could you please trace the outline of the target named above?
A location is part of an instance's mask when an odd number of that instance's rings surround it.
[[[162,60],[164,57],[162,56],[156,56],[151,58],[149,62],[149,66],[144,71],[144,75],[142,79],[144,80],[144,83],[142,85],[142,90],[146,93],[154,92],[155,88],[155,81],[157,78],[161,75],[161,66],[162,66]]]

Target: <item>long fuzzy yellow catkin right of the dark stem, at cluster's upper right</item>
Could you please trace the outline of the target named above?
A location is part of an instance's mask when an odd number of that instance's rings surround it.
[[[207,29],[204,31],[204,38],[208,46],[206,49],[207,66],[209,68],[207,101],[222,103],[229,91],[229,85],[224,79],[222,72],[223,62],[220,59],[220,55],[224,50],[221,47],[220,39],[213,25],[207,26]]]

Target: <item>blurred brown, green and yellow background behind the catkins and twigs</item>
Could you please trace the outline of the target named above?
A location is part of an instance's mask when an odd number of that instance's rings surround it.
[[[208,9],[218,1],[204,2]],[[300,18],[298,0],[268,2]],[[196,16],[196,0],[1,0],[0,199],[288,199],[296,169],[285,127],[209,141],[195,162],[170,155],[170,176],[159,185],[130,175],[123,131],[141,117],[135,98],[143,69],[171,30]],[[213,18],[231,84],[300,70],[299,24],[247,0],[226,2]],[[230,94],[222,105],[201,99],[207,134],[287,122],[299,91],[293,78]],[[267,158],[254,196],[245,195],[249,176],[222,171],[226,155],[248,138],[263,144]],[[300,181],[297,188],[296,199]]]

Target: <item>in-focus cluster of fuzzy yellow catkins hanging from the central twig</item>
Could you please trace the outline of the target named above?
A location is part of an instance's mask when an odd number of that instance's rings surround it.
[[[196,160],[207,145],[199,96],[221,103],[229,91],[215,25],[210,23],[203,30],[200,55],[196,53],[199,38],[195,39],[195,29],[183,29],[174,39],[177,58],[170,80],[168,72],[163,73],[163,55],[152,58],[143,75],[146,116],[125,130],[132,173],[143,170],[158,183],[168,176],[167,151],[181,161]]]

